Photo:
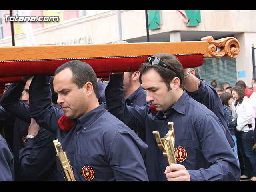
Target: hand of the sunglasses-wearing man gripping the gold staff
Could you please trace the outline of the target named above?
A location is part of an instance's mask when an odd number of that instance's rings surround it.
[[[190,174],[186,168],[180,164],[167,166],[164,173],[168,181],[191,181]]]

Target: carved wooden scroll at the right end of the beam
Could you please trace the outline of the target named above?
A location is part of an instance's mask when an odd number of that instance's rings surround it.
[[[234,37],[214,40],[212,36],[207,36],[202,38],[201,41],[208,42],[208,57],[211,58],[236,58],[238,56],[238,53],[240,52],[240,44],[238,40]]]

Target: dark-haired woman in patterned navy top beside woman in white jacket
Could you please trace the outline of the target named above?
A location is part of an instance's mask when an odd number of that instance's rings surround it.
[[[237,159],[238,164],[239,164],[238,154],[237,154],[238,151],[237,151],[237,144],[236,144],[236,136],[235,136],[236,118],[234,118],[234,115],[233,115],[232,110],[230,108],[234,99],[233,99],[233,96],[232,96],[231,93],[226,93],[226,92],[220,94],[220,99],[221,99],[221,102],[222,102],[222,105],[223,105],[223,111],[224,111],[224,116],[225,116],[226,121],[227,121],[228,130],[230,131],[230,134],[232,135],[232,138],[235,142],[234,154],[235,154],[236,159]]]

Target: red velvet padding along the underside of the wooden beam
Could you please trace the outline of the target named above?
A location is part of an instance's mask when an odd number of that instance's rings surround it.
[[[203,54],[176,55],[183,68],[201,66],[204,63]],[[89,58],[77,59],[88,63],[96,74],[109,72],[136,71],[145,62],[148,56],[125,57],[125,58]],[[44,76],[53,75],[55,70],[62,64],[70,60],[33,60],[0,62],[0,77],[20,77],[20,76]]]

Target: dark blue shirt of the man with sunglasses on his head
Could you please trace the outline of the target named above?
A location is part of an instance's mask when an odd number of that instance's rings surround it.
[[[158,147],[153,131],[163,138],[168,122],[174,123],[175,148],[186,150],[186,158],[179,162],[188,170],[192,181],[240,179],[240,168],[224,134],[222,124],[206,106],[190,98],[186,92],[167,110],[153,114],[150,104],[130,107],[123,98],[123,76],[112,75],[105,90],[108,110],[134,131],[144,132],[148,150],[145,164],[150,181],[166,181],[166,157]]]

